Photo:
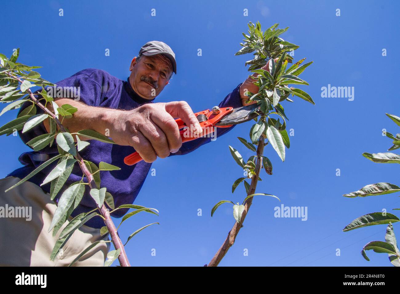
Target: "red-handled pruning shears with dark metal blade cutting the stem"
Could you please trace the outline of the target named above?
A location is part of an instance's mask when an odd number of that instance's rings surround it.
[[[206,109],[196,112],[194,115],[202,127],[203,132],[201,136],[204,137],[214,132],[214,127],[230,128],[234,124],[241,124],[242,122],[247,122],[256,118],[258,116],[257,110],[260,110],[260,106],[257,104],[250,104],[238,108],[219,108],[218,106],[214,106],[211,110]],[[184,135],[188,126],[186,126],[180,118],[177,118],[175,122],[179,126],[182,143],[201,138],[199,136],[194,136],[191,132],[189,136],[186,134]],[[136,164],[141,160],[142,157],[140,157],[138,152],[134,152],[124,158],[124,162],[127,165]]]

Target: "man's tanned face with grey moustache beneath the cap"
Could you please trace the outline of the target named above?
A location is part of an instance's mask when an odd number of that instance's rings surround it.
[[[129,70],[129,81],[133,90],[142,98],[153,99],[168,84],[172,74],[171,61],[162,54],[133,58]]]

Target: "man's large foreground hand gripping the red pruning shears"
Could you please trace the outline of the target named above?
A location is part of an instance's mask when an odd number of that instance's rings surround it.
[[[157,156],[165,158],[182,146],[178,125],[181,118],[195,132],[202,128],[189,104],[185,101],[148,103],[128,111],[109,112],[110,137],[116,144],[132,146],[145,162],[154,162]],[[121,154],[124,156],[124,154]]]

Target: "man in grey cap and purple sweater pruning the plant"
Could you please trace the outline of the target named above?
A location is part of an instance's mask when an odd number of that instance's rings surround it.
[[[267,68],[267,67],[265,67]],[[130,64],[131,74],[127,81],[110,76],[103,70],[89,68],[58,83],[57,87],[80,87],[80,100],[71,98],[54,98],[58,106],[70,104],[78,111],[72,118],[65,118],[63,125],[72,132],[92,129],[112,138],[116,144],[91,140],[90,145],[80,151],[82,158],[94,162],[100,161],[121,167],[121,170],[102,171],[100,187],[106,187],[114,197],[115,207],[132,204],[150,170],[151,163],[157,157],[182,155],[210,142],[210,138],[198,138],[185,142],[179,134],[174,118],[181,118],[186,125],[194,126],[201,134],[200,124],[187,102],[173,101],[153,103],[153,100],[168,84],[172,74],[176,74],[176,60],[172,49],[165,43],[152,41],[146,43]],[[258,92],[254,80],[246,79],[219,104],[220,107],[240,107],[248,99],[246,89]],[[28,105],[25,103],[21,109]],[[49,107],[51,111],[53,109]],[[43,111],[37,107],[37,113]],[[218,136],[232,128],[218,129]],[[44,120],[29,132],[19,134],[23,142],[28,142],[40,134],[49,132],[48,120]],[[85,140],[80,136],[81,140]],[[87,140],[88,138],[86,138]],[[133,148],[132,148],[133,147]],[[137,151],[143,158],[133,166],[124,164],[124,156]],[[48,158],[58,154],[56,142],[39,152],[24,152],[19,157],[24,165],[14,170],[6,178],[0,179],[0,206],[32,207],[32,220],[19,218],[0,219],[0,265],[3,266],[66,266],[86,247],[98,240],[108,240],[108,234],[101,236],[100,228],[104,226],[102,218],[96,216],[74,232],[62,247],[54,261],[50,260],[52,248],[60,232],[53,237],[47,230],[51,223],[56,203],[62,192],[73,182],[82,178],[82,171],[75,165],[64,187],[58,192],[54,201],[50,200],[50,183],[40,186],[44,177],[54,168],[53,162],[41,172],[4,193],[21,178],[32,172]],[[85,182],[87,179],[85,178]],[[99,188],[100,188],[99,187]],[[71,217],[96,208],[94,200],[86,187],[79,206]],[[127,209],[117,210],[114,217],[122,217]],[[75,265],[102,266],[106,259],[110,243],[100,243],[89,250]]]

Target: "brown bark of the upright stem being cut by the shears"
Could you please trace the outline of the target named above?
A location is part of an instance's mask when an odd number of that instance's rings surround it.
[[[254,172],[256,173],[255,175],[252,176],[249,192],[247,194],[251,195],[254,194],[256,191],[257,187],[257,182],[258,182],[258,177],[260,176],[260,170],[261,170],[261,162],[262,162],[262,154],[264,152],[264,137],[261,135],[260,139],[258,140],[258,147],[257,147],[257,162],[256,162],[256,168]],[[228,252],[229,248],[232,247],[232,245],[235,242],[236,236],[239,233],[240,228],[243,226],[244,219],[246,218],[246,215],[250,209],[250,206],[253,202],[253,197],[250,197],[249,199],[246,200],[244,204],[244,211],[242,213],[242,218],[240,219],[240,223],[235,222],[232,230],[229,231],[228,236],[226,237],[224,243],[220,247],[220,249],[217,251],[217,253],[214,255],[210,263],[204,266],[218,266],[218,264],[221,262],[222,258],[224,258],[225,254]]]

